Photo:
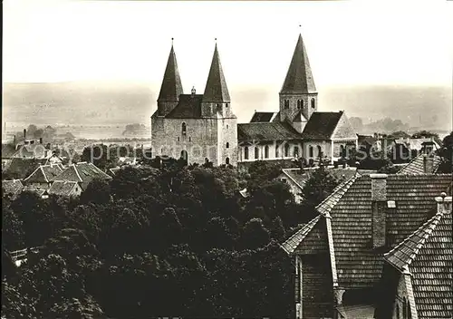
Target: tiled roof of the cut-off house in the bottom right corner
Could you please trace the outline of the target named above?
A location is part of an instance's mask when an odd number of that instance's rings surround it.
[[[438,212],[395,247],[385,259],[409,268],[419,318],[453,316],[453,224],[451,212]]]

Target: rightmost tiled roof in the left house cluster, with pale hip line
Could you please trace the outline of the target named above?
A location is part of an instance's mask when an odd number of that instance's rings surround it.
[[[81,183],[82,189],[86,189],[92,179],[110,180],[111,176],[98,169],[94,164],[80,162],[72,164],[69,168],[64,169],[61,174],[53,180],[70,180]]]

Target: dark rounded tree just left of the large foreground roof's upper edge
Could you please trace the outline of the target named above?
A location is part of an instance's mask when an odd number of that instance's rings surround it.
[[[306,181],[302,194],[307,203],[316,206],[327,198],[338,184],[338,180],[324,166],[320,166]]]

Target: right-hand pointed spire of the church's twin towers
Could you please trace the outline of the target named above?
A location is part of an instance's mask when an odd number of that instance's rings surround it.
[[[207,76],[203,102],[230,102],[222,64],[220,63],[220,57],[218,56],[217,38],[211,68],[209,69],[209,75]]]

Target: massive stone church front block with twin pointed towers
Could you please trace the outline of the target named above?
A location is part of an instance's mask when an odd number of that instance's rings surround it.
[[[158,110],[151,116],[152,156],[183,158],[188,164],[236,165],[236,127],[217,43],[204,94],[194,88],[184,94],[171,45]]]

